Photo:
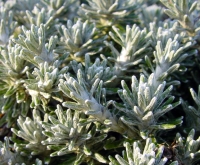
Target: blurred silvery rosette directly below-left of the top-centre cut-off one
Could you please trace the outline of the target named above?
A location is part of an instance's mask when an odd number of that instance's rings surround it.
[[[60,33],[59,51],[70,52],[74,59],[82,59],[86,54],[96,54],[101,51],[102,42],[106,37],[94,38],[97,29],[94,24],[88,21],[82,22],[77,20],[74,24],[68,20],[67,25],[58,25],[57,29]],[[96,46],[91,46],[95,44]]]

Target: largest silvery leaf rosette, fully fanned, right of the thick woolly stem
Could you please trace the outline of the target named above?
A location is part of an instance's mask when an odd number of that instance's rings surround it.
[[[112,102],[112,104],[121,111],[120,119],[135,133],[143,132],[143,137],[147,138],[151,131],[159,129],[175,128],[175,125],[180,124],[166,123],[164,126],[158,124],[158,120],[165,113],[169,112],[180,102],[172,103],[174,97],[170,97],[172,86],[166,90],[166,82],[161,83],[158,88],[155,88],[153,80],[155,75],[152,74],[148,79],[143,75],[138,80],[132,77],[132,91],[128,89],[125,81],[122,81],[123,90],[118,90],[118,94],[124,105]],[[168,99],[169,97],[169,99]],[[182,121],[181,121],[182,122]],[[169,124],[169,125],[167,125]]]

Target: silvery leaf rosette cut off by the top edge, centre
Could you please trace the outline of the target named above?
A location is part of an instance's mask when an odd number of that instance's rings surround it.
[[[130,24],[132,21],[129,18],[140,4],[141,1],[135,2],[133,0],[91,0],[81,5],[82,10],[80,10],[79,15],[96,21],[101,26],[111,26],[123,22],[122,20],[127,20],[127,24]]]

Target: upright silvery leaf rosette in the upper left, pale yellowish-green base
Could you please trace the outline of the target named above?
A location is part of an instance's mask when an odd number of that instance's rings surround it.
[[[56,55],[52,51],[53,47],[55,47],[55,43],[57,42],[57,37],[52,36],[48,44],[50,47],[47,47],[45,44],[46,35],[43,24],[40,24],[40,26],[32,25],[31,30],[26,30],[24,27],[22,29],[26,38],[14,40],[15,43],[22,46],[21,57],[36,66],[38,66],[42,61],[53,63],[56,59]],[[21,43],[24,44],[21,45]],[[36,58],[35,61],[34,57],[37,56],[39,58]],[[40,60],[38,61],[37,59]]]

